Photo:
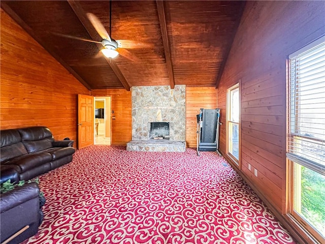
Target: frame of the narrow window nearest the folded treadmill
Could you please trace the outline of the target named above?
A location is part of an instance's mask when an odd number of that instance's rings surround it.
[[[238,110],[239,110],[239,119],[238,119],[238,123],[236,121],[231,121],[231,92],[235,89],[238,89]],[[241,150],[240,150],[240,80],[233,86],[229,87],[227,89],[227,93],[226,93],[226,155],[230,158],[230,160],[232,160],[236,166],[238,166],[240,168],[240,155],[241,155]],[[232,124],[237,124],[238,125],[238,160],[236,159],[236,157],[234,155],[232,155],[230,153],[230,123]]]

